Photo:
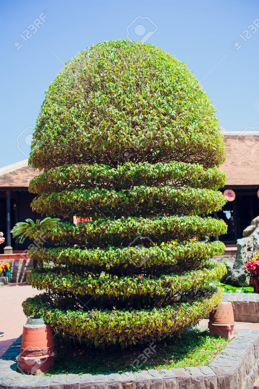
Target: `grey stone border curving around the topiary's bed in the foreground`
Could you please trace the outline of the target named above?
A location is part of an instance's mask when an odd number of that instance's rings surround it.
[[[5,357],[17,354],[11,348]],[[42,377],[18,373],[16,362],[4,358],[1,389],[250,389],[259,374],[259,330],[240,331],[209,366]]]

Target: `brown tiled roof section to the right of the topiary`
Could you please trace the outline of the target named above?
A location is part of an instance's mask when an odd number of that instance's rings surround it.
[[[227,158],[221,170],[227,174],[226,185],[259,186],[259,131],[241,136],[233,131],[224,137]]]

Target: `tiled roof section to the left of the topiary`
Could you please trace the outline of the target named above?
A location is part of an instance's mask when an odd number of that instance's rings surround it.
[[[28,187],[39,170],[28,166],[28,159],[0,168],[0,187]]]

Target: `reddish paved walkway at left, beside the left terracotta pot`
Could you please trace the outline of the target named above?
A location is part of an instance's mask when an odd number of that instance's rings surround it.
[[[0,286],[0,357],[23,332],[26,316],[21,303],[40,292],[28,284],[8,284]]]

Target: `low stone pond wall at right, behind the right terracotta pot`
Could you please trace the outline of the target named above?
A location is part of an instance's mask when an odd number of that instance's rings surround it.
[[[223,301],[232,303],[235,321],[259,323],[259,294],[224,293]]]

